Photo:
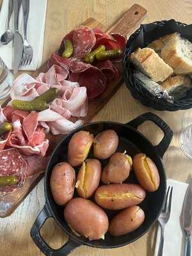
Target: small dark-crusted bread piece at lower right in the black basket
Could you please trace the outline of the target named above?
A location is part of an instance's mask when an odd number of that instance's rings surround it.
[[[183,95],[186,91],[192,88],[191,79],[189,76],[170,76],[161,86],[167,90],[170,95]]]

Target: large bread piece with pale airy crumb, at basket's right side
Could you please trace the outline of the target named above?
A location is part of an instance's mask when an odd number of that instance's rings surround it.
[[[192,44],[179,33],[174,33],[166,41],[161,50],[161,58],[173,68],[175,74],[192,74]]]

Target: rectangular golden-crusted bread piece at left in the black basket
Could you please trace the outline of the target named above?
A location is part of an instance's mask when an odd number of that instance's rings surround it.
[[[150,48],[138,48],[132,52],[130,59],[143,74],[155,82],[163,82],[173,73],[173,69]]]

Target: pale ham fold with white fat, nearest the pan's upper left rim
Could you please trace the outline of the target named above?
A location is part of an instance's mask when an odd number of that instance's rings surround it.
[[[68,132],[76,129],[77,127],[83,125],[82,120],[77,120],[75,123],[67,120],[66,118],[62,118],[55,122],[48,123],[52,134],[67,134]]]

